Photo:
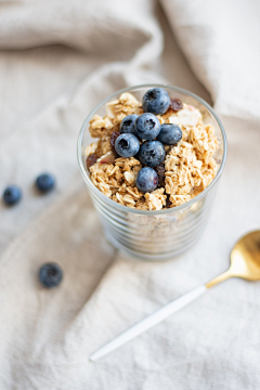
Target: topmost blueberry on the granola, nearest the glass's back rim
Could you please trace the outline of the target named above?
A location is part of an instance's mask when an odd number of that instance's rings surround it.
[[[170,96],[164,88],[152,88],[143,95],[143,109],[146,113],[165,114],[170,105]]]

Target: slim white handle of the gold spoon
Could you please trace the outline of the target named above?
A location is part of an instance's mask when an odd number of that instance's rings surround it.
[[[89,359],[94,362],[98,359],[114,351],[115,349],[130,341],[134,337],[141,335],[143,332],[150,329],[152,326],[164,321],[170,314],[176,313],[178,310],[184,308],[186,304],[188,304],[190,302],[198,298],[200,295],[203,295],[206,290],[207,287],[205,285],[202,285],[194,288],[190,292],[184,294],[182,297],[174,299],[172,302],[166,304],[161,309],[157,310],[155,313],[142,320],[140,323],[133,325],[131,328],[123,332],[121,335],[116,337],[114,340],[109,341],[104,347],[101,347],[96,352],[92,353]]]

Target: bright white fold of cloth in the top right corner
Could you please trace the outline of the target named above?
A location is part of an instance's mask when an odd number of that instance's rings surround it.
[[[222,115],[259,122],[260,3],[161,0],[194,74]]]

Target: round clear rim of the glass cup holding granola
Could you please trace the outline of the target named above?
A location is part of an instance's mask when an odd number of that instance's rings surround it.
[[[107,103],[108,101],[113,100],[114,98],[116,98],[118,94],[121,94],[123,92],[130,92],[134,89],[140,89],[140,88],[168,88],[172,91],[177,91],[183,94],[186,94],[188,96],[192,96],[194,99],[196,99],[199,103],[202,103],[208,110],[209,113],[213,116],[213,118],[216,119],[217,123],[219,125],[219,128],[221,130],[221,135],[222,135],[222,140],[223,140],[223,158],[222,158],[222,162],[221,166],[216,174],[216,177],[213,178],[213,180],[211,181],[211,183],[197,196],[195,196],[193,199],[176,206],[176,207],[171,207],[169,209],[161,209],[161,210],[139,210],[139,209],[134,209],[131,207],[127,207],[123,206],[113,199],[109,199],[107,196],[105,196],[100,190],[96,188],[96,186],[92,183],[92,181],[90,180],[90,177],[84,168],[84,164],[82,160],[82,151],[81,151],[81,145],[82,145],[82,139],[83,139],[83,134],[84,134],[84,130],[86,127],[88,125],[88,122],[90,121],[90,119],[93,117],[93,115],[95,114],[95,112],[101,108],[105,103]],[[193,204],[195,204],[196,202],[200,200],[202,198],[205,197],[205,195],[213,187],[213,185],[217,183],[217,181],[219,180],[219,178],[221,177],[221,173],[223,172],[224,169],[224,165],[225,165],[225,160],[226,160],[226,154],[227,154],[227,142],[226,142],[226,135],[225,135],[225,131],[224,131],[224,127],[220,120],[220,118],[218,117],[218,115],[214,113],[213,108],[207,103],[205,102],[202,98],[197,96],[195,93],[190,92],[187,90],[184,90],[182,88],[178,88],[178,87],[171,87],[171,86],[167,86],[167,84],[158,84],[158,83],[145,83],[145,84],[138,84],[138,86],[132,86],[132,87],[128,87],[128,88],[123,88],[119,91],[116,91],[114,93],[112,93],[109,96],[105,98],[104,100],[102,100],[91,112],[90,114],[87,116],[87,118],[83,121],[83,125],[79,131],[79,135],[78,135],[78,140],[77,140],[77,159],[78,159],[78,164],[79,164],[79,169],[81,171],[81,174],[83,177],[83,179],[86,180],[87,184],[91,187],[91,190],[93,190],[93,192],[96,194],[96,196],[101,197],[101,199],[103,199],[105,203],[107,203],[108,205],[110,205],[112,207],[117,208],[118,210],[125,211],[125,212],[130,212],[130,213],[135,213],[135,214],[142,214],[142,216],[164,216],[164,214],[171,214],[173,212],[183,210],[190,206],[192,206]]]

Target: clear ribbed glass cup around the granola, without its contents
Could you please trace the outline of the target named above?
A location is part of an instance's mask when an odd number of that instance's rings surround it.
[[[136,210],[107,198],[91,182],[84,157],[86,146],[93,142],[89,134],[89,122],[93,115],[104,116],[106,103],[118,99],[122,92],[130,92],[142,101],[145,91],[153,87],[161,87],[171,98],[178,98],[183,103],[198,108],[203,114],[204,122],[213,125],[219,141],[219,148],[213,156],[218,161],[218,171],[208,187],[181,206],[159,211]],[[78,136],[77,155],[81,174],[99,213],[105,237],[114,247],[134,258],[164,261],[187,251],[202,236],[219,179],[223,172],[226,159],[226,136],[213,109],[194,93],[176,87],[143,84],[113,93],[89,114]]]

